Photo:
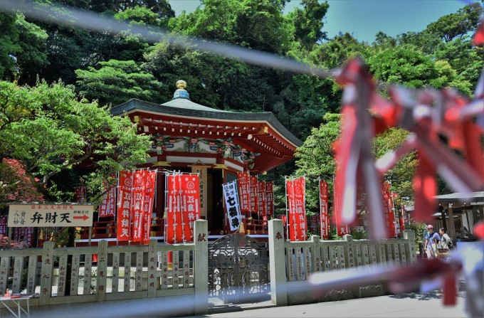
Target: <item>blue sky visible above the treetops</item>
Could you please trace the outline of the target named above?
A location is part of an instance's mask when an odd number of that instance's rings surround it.
[[[342,31],[352,33],[359,41],[372,43],[378,31],[389,36],[409,31],[422,31],[441,16],[452,14],[466,4],[463,0],[329,0],[324,31],[335,36]],[[191,12],[199,0],[169,0],[175,14],[182,10]],[[299,6],[300,1],[291,0],[286,11]]]

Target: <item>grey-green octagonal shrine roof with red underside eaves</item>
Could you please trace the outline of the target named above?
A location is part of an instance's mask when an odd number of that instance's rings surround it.
[[[186,85],[186,84],[185,84]],[[169,134],[206,139],[232,138],[233,142],[260,155],[254,173],[261,173],[293,159],[300,139],[281,124],[272,112],[216,110],[189,100],[184,87],[174,99],[161,105],[132,99],[112,107],[112,115],[126,113],[149,134]]]

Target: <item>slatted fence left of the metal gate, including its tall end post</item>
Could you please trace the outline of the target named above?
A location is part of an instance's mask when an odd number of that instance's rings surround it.
[[[208,312],[208,229],[194,223],[194,243],[0,250],[0,293],[38,297],[31,305],[194,295],[194,313]],[[169,259],[172,260],[169,263]],[[189,304],[187,304],[187,307]]]

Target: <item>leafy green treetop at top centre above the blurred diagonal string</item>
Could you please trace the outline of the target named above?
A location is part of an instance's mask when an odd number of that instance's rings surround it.
[[[195,12],[169,21],[174,31],[215,41],[284,53],[293,34],[285,0],[202,0]]]

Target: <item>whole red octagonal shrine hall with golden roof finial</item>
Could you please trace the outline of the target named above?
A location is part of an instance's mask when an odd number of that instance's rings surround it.
[[[112,107],[112,115],[130,117],[140,134],[151,137],[149,158],[139,168],[158,169],[152,213],[151,237],[164,236],[164,171],[198,173],[200,216],[208,221],[209,238],[231,233],[226,224],[222,184],[237,179],[240,171],[266,174],[293,159],[300,139],[281,124],[272,112],[230,112],[199,105],[190,100],[183,80],[177,82],[173,99],[163,104],[132,99]],[[262,220],[243,214],[241,231],[265,236]],[[84,231],[82,238],[88,238]],[[115,222],[100,218],[93,224],[93,240],[116,238]]]

